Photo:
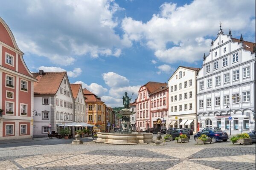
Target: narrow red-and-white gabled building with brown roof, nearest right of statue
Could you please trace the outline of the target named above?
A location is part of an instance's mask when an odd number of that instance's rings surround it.
[[[150,94],[152,94],[154,91],[160,89],[160,87],[164,86],[166,87],[166,83],[160,83],[160,82],[148,82],[147,84],[140,87],[137,101],[136,101],[136,124],[137,124],[137,130],[146,130],[150,127],[152,127],[152,119],[150,116]]]

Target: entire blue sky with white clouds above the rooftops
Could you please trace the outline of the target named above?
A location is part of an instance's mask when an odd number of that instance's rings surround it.
[[[29,70],[67,71],[111,107],[179,65],[200,68],[218,34],[255,42],[255,0],[12,0],[0,17]]]

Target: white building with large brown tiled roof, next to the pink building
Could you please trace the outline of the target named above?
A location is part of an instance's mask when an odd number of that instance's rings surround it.
[[[33,76],[38,80],[34,82],[34,110],[41,113],[34,116],[34,136],[43,137],[57,132],[58,125],[73,122],[74,98],[67,72],[40,70]]]

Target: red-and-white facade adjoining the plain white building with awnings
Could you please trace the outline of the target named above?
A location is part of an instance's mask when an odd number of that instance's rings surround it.
[[[151,127],[164,126],[168,120],[168,85],[161,86],[149,95]]]

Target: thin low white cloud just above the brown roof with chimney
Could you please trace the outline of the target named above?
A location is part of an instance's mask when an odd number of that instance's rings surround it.
[[[61,72],[66,71],[63,68],[60,67],[47,67],[47,66],[40,66],[38,67],[38,70],[44,70],[44,72]],[[73,71],[67,71],[68,77],[78,77],[82,73],[81,68],[74,68]]]

